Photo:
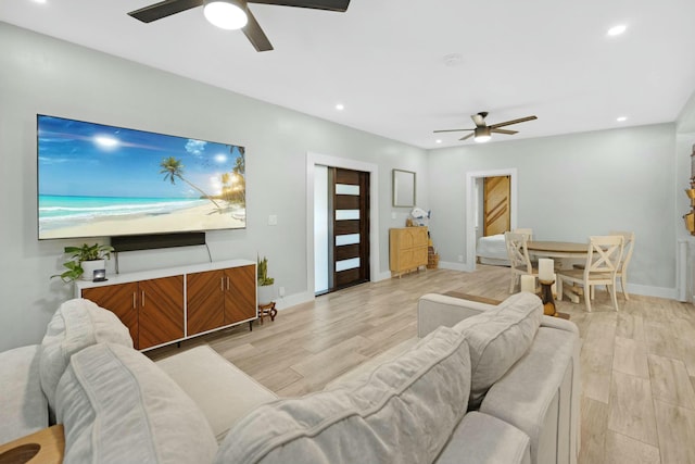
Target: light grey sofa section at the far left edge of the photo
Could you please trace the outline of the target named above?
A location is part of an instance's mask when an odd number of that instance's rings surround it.
[[[48,427],[48,404],[39,381],[38,344],[0,353],[0,443]]]

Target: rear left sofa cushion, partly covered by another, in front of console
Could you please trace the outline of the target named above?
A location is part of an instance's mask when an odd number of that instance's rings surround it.
[[[70,358],[83,348],[99,342],[132,348],[128,329],[111,311],[81,298],[61,304],[48,323],[41,341],[41,389],[51,411],[55,410],[55,387]]]

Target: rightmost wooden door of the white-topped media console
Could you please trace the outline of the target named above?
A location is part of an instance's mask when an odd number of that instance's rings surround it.
[[[256,268],[253,265],[225,269],[225,324],[256,317]]]

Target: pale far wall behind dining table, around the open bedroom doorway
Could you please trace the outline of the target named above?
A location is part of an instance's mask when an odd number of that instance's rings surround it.
[[[675,125],[661,124],[429,152],[430,226],[443,266],[466,255],[467,172],[518,170],[518,224],[534,238],[585,241],[610,229],[634,230],[631,290],[673,297]],[[684,188],[684,187],[683,187]],[[468,264],[468,263],[467,263]]]

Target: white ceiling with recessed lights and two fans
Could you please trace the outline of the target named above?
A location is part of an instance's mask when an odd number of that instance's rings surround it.
[[[250,4],[275,47],[262,53],[201,8],[127,15],[151,3],[2,0],[0,21],[426,149],[475,143],[432,130],[473,127],[480,111],[539,116],[493,141],[673,122],[695,90],[692,0]]]

